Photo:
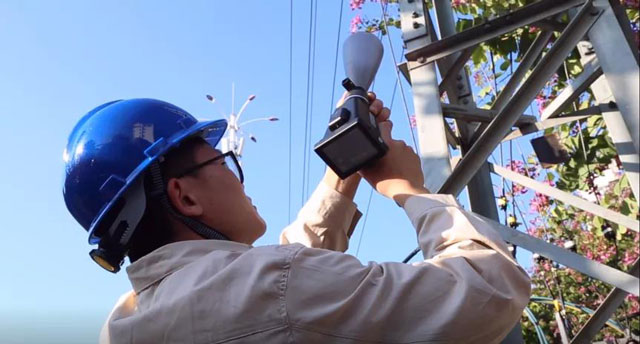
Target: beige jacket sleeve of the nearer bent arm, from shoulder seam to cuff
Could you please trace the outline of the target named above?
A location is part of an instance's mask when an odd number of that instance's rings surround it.
[[[529,300],[530,281],[490,224],[449,195],[411,197],[405,211],[424,261],[363,266],[346,254],[297,252],[285,298],[294,337],[496,343],[507,335]]]

